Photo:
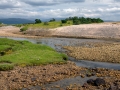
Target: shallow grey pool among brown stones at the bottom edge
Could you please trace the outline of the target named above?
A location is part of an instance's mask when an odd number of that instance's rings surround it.
[[[81,76],[77,76],[77,77],[66,78],[56,82],[50,82],[43,86],[34,86],[34,87],[31,86],[29,87],[29,89],[23,88],[22,90],[41,90],[41,88],[43,87],[45,87],[46,90],[60,90],[60,89],[66,90],[66,86],[83,85],[89,78],[96,79],[95,76],[85,77],[85,78],[81,78]]]

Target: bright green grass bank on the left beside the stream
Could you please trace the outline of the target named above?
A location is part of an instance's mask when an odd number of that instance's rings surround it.
[[[67,56],[56,52],[54,49],[33,44],[28,41],[15,41],[0,38],[0,52],[5,52],[0,56],[0,70],[11,69],[12,66],[34,66],[42,64],[65,63]],[[9,50],[10,48],[10,50]]]

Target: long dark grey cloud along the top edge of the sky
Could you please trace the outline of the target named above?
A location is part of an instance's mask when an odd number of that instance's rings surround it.
[[[32,5],[32,6],[52,6],[52,5],[58,5],[58,4],[64,4],[64,3],[78,3],[78,2],[85,2],[85,0],[24,0],[22,2],[25,2],[26,4]]]

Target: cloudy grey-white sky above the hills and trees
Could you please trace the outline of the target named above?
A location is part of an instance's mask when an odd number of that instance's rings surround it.
[[[120,0],[0,0],[0,18],[73,16],[120,21]]]

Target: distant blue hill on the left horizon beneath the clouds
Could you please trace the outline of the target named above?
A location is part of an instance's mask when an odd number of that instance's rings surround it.
[[[25,23],[34,23],[32,20],[22,19],[22,18],[5,18],[0,19],[1,23],[4,24],[25,24]]]

